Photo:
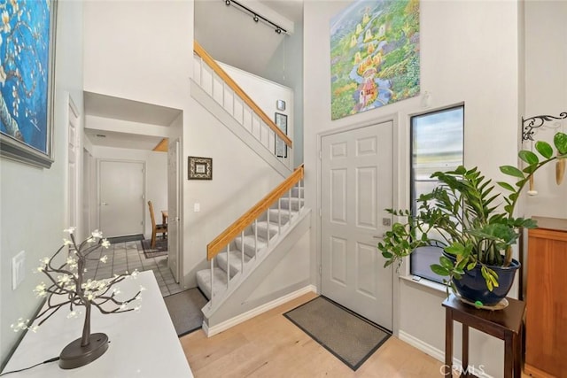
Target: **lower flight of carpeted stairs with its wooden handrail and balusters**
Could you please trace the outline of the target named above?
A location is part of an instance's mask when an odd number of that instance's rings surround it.
[[[211,267],[197,273],[198,287],[209,299],[203,309],[205,315],[220,308],[226,298],[304,218],[302,178],[303,166],[300,166],[290,178],[241,217],[240,220],[248,220],[249,224],[236,232],[234,230],[240,223],[237,220],[209,243]],[[286,188],[291,182],[291,188]],[[255,214],[258,216],[254,217]],[[225,237],[225,234],[234,237]],[[218,245],[217,241],[225,245],[215,253],[213,250]]]

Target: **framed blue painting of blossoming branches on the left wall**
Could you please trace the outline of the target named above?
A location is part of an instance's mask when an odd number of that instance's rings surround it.
[[[50,153],[50,0],[0,0],[0,131]]]

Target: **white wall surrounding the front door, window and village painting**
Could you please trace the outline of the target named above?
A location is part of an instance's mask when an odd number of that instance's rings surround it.
[[[307,206],[317,206],[319,133],[378,119],[398,120],[399,197],[394,207],[408,207],[408,118],[423,112],[421,98],[411,98],[375,111],[330,120],[330,18],[349,2],[306,2],[304,7],[304,124]],[[421,4],[422,93],[431,94],[431,107],[465,104],[465,164],[478,166],[488,177],[503,179],[498,166],[515,165],[519,139],[518,4],[515,2],[441,2]],[[313,228],[319,224],[314,217]],[[316,282],[319,262],[313,238],[311,267]],[[394,292],[399,320],[395,331],[405,332],[434,349],[444,350],[441,308],[443,294],[401,283]],[[429,320],[429,321],[428,321]],[[471,364],[485,364],[488,374],[500,376],[503,348],[488,336],[474,338]],[[423,346],[423,345],[422,345]],[[457,353],[458,355],[458,353]]]

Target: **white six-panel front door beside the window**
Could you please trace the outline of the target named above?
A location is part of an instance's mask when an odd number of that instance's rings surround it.
[[[392,122],[322,137],[322,295],[392,330]]]

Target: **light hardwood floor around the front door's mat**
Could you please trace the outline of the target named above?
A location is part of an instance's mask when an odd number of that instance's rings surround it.
[[[282,316],[314,297],[315,293],[306,294],[210,338],[202,330],[181,337],[193,374],[196,378],[442,376],[443,363],[394,336],[353,372]]]

